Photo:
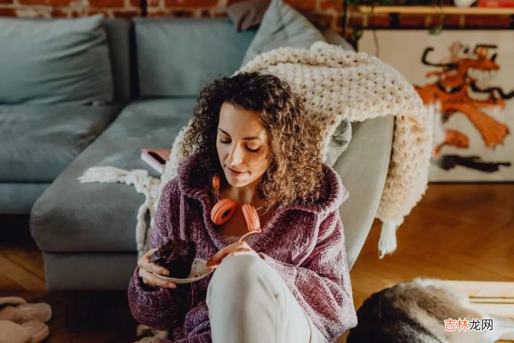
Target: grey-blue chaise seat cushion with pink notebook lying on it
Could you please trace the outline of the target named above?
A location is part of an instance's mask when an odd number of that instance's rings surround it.
[[[89,167],[146,169],[141,148],[171,147],[196,98],[133,102],[34,204],[31,233],[43,251],[137,251],[136,214],[144,195],[125,184],[81,184]],[[59,237],[58,240],[55,238]]]

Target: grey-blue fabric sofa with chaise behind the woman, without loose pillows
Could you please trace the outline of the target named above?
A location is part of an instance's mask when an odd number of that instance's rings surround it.
[[[92,166],[146,169],[157,176],[140,160],[140,149],[170,147],[190,118],[201,86],[219,75],[231,75],[255,34],[236,32],[229,19],[136,19],[132,40],[131,23],[105,23],[114,103],[72,109],[58,104],[44,109],[24,104],[0,107],[0,118],[17,109],[48,118],[46,124],[24,124],[29,133],[24,139],[32,146],[47,139],[44,133],[53,120],[63,120],[63,130],[74,133],[53,143],[70,150],[65,159],[56,162],[49,148],[38,152],[41,159],[35,170],[32,163],[9,175],[0,169],[0,213],[31,209],[30,231],[43,251],[50,291],[126,289],[137,261],[136,213],[144,197],[124,184],[81,184],[77,178]],[[324,34],[329,43],[347,46],[334,32]],[[69,111],[75,112],[75,119],[64,122]],[[334,165],[350,192],[340,208],[350,266],[378,208],[393,124],[392,118],[353,123],[350,145]],[[1,155],[0,160],[4,161]]]

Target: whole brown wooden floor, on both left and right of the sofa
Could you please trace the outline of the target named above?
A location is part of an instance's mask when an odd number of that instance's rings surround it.
[[[7,228],[2,225],[2,229]],[[414,277],[514,281],[514,184],[430,185],[400,227],[396,252],[383,260],[377,252],[379,231],[376,221],[351,271],[356,307],[370,294]],[[52,304],[54,317],[46,342],[135,339],[135,322],[127,318],[123,293],[108,295],[114,300],[99,309],[110,309],[111,324],[68,333],[64,295],[45,291],[41,252],[30,242],[0,243],[0,296],[5,295]]]

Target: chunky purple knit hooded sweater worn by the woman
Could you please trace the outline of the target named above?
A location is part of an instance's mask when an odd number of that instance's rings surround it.
[[[210,221],[211,175],[197,166],[196,155],[186,158],[177,177],[162,190],[150,245],[154,248],[168,240],[187,239],[196,243],[196,257],[207,260],[227,242]],[[357,317],[339,215],[348,192],[334,169],[323,165],[323,173],[324,195],[311,205],[279,206],[251,247],[277,270],[316,327],[334,342],[357,325]],[[185,233],[181,233],[181,221]],[[211,341],[205,299],[212,274],[176,289],[150,289],[138,272],[136,267],[128,285],[128,303],[136,320],[159,330],[172,327],[170,339],[161,343]]]

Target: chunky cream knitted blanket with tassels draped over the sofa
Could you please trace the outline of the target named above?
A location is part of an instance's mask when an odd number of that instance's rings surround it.
[[[383,223],[379,251],[382,258],[396,249],[396,229],[425,193],[432,151],[432,116],[414,87],[393,67],[365,52],[344,50],[324,42],[309,50],[278,48],[262,53],[236,72],[258,71],[273,74],[291,85],[300,95],[318,129],[320,149],[326,156],[328,143],[340,122],[363,121],[395,116],[393,151],[377,218]],[[159,180],[145,171],[125,171],[94,167],[81,182],[124,182],[135,184],[146,201],[138,212],[136,239],[140,255],[148,249],[150,232],[144,214],[153,213],[160,190],[176,176],[185,158],[179,143],[189,124],[179,132],[170,160]],[[136,174],[135,174],[136,173]],[[151,225],[152,226],[152,223]]]

